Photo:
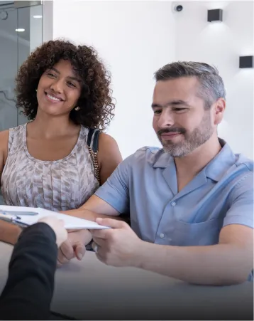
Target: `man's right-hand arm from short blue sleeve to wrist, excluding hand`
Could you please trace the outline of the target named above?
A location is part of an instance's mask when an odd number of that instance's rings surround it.
[[[181,247],[143,243],[140,266],[190,283],[227,285],[247,280],[253,270],[253,172],[239,181],[229,201],[218,244]],[[152,260],[148,248],[153,251]]]

